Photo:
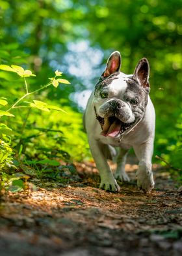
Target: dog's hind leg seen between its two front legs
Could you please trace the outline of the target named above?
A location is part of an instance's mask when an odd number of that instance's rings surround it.
[[[125,161],[128,152],[129,150],[123,150],[123,148],[120,148],[116,159],[117,168],[116,172],[114,173],[114,178],[122,182],[129,182],[129,176],[127,176],[125,173]]]

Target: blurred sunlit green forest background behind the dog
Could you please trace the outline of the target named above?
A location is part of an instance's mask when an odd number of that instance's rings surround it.
[[[1,111],[25,94],[25,81],[15,72],[0,71],[1,168],[12,160],[13,165],[23,161],[55,168],[58,159],[90,158],[82,112],[114,50],[121,52],[127,74],[140,58],[148,58],[157,114],[154,156],[181,168],[181,16],[181,0],[0,0],[0,64],[36,74],[27,77],[31,91],[47,84],[56,70],[71,83],[25,99],[67,113],[25,107],[12,109],[11,117]]]

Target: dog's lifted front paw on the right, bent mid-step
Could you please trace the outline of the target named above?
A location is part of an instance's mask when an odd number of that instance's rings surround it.
[[[144,193],[150,192],[153,189],[155,183],[153,180],[153,174],[149,171],[140,171],[136,172],[137,176],[137,185]]]

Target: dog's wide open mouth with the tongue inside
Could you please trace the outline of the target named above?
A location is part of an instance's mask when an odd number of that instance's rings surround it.
[[[112,116],[109,118],[102,118],[102,131],[101,135],[115,137],[118,134],[122,135],[125,131],[129,130],[136,123],[136,120],[132,123],[123,123],[118,118]],[[101,121],[101,120],[100,120]],[[100,122],[99,121],[99,122]],[[100,122],[101,123],[101,122]]]

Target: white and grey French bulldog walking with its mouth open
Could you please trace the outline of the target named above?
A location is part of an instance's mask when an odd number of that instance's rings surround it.
[[[117,192],[120,186],[116,180],[129,182],[125,160],[133,147],[139,161],[137,185],[146,193],[154,187],[151,157],[155,110],[149,98],[149,63],[146,58],[140,59],[129,75],[120,72],[120,67],[120,52],[113,52],[88,100],[85,129],[101,176],[99,187]],[[117,168],[112,174],[107,159],[115,155]]]

